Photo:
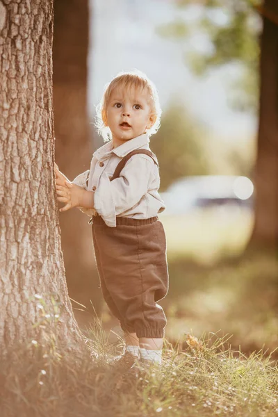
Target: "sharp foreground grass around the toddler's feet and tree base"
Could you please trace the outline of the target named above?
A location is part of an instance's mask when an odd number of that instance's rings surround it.
[[[187,334],[183,349],[165,340],[161,369],[122,378],[108,363],[122,342],[109,345],[99,320],[88,336],[81,361],[61,351],[49,359],[40,343],[10,352],[1,363],[1,417],[277,416],[271,354],[245,357],[224,350],[227,336]]]

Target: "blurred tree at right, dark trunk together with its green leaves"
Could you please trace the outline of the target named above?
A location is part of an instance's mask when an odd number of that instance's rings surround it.
[[[195,31],[211,42],[207,54],[188,54],[197,74],[228,63],[240,65],[236,96],[232,104],[245,111],[259,107],[259,134],[254,168],[256,187],[255,224],[250,245],[278,244],[278,5],[275,0],[181,0],[180,7],[197,3],[202,17]],[[216,14],[222,12],[217,19]],[[263,16],[263,25],[261,24]],[[261,35],[261,27],[263,31]],[[186,22],[160,28],[163,35],[187,37],[193,30]],[[261,38],[260,38],[261,37]],[[259,42],[261,39],[261,43]],[[261,51],[261,54],[260,54]],[[259,90],[260,88],[260,90]],[[259,104],[259,106],[258,106]]]

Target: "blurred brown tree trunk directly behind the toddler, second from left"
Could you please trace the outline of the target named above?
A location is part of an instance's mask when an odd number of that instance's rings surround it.
[[[56,163],[73,179],[90,168],[92,140],[87,112],[88,0],[54,1],[54,126]],[[99,311],[99,279],[90,218],[77,209],[60,213],[70,295]],[[79,313],[79,319],[85,318]]]

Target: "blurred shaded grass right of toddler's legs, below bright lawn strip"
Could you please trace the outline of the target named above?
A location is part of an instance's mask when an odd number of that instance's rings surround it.
[[[275,254],[245,254],[209,268],[181,259],[170,262],[169,271],[169,293],[161,305],[170,341],[190,329],[197,336],[222,329],[233,335],[231,345],[241,345],[244,352],[278,345]]]

